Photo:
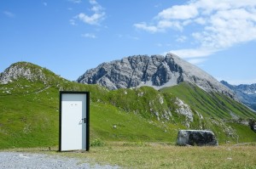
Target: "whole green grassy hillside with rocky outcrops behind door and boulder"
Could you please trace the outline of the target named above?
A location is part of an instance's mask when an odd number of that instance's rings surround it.
[[[10,73],[15,70],[19,76]],[[109,91],[26,62],[11,65],[3,77],[11,81],[0,84],[0,149],[57,145],[60,90],[90,91],[90,140],[175,143],[179,129],[191,128],[211,129],[220,143],[256,141],[255,132],[237,122],[256,119],[253,111],[189,83]]]

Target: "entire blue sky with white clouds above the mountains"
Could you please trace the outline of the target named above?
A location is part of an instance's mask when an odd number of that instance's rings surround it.
[[[0,0],[0,71],[28,61],[76,80],[102,62],[172,52],[256,83],[255,0]]]

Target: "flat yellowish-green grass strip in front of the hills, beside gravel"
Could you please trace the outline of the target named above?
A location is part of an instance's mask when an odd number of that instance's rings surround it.
[[[54,150],[53,150],[54,149]],[[180,147],[164,143],[109,142],[89,152],[57,152],[57,148],[15,149],[79,158],[81,163],[124,168],[255,168],[256,145]]]

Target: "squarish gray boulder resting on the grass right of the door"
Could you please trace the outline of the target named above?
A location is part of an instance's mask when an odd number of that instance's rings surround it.
[[[180,130],[177,133],[177,145],[218,145],[218,141],[211,131]]]

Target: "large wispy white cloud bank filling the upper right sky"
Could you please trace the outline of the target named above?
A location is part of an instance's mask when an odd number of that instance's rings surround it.
[[[179,32],[197,26],[189,41],[195,48],[183,48],[170,52],[184,58],[206,57],[242,42],[256,40],[256,1],[191,0],[183,5],[166,8],[154,16],[151,22],[134,26],[150,33],[170,29]],[[184,38],[177,38],[183,42]]]

